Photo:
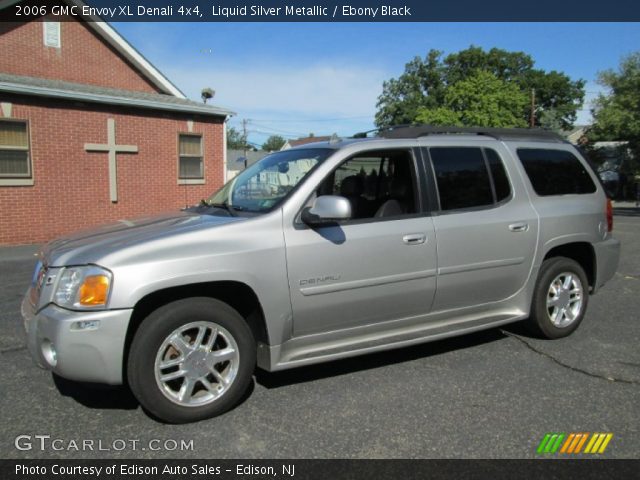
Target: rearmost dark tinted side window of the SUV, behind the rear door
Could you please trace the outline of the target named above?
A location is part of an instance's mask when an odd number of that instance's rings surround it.
[[[593,193],[596,186],[578,158],[566,150],[519,148],[518,157],[540,196]]]

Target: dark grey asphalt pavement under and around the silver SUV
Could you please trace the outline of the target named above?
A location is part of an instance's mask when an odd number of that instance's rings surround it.
[[[599,456],[638,458],[634,207],[616,209],[618,273],[568,338],[538,340],[514,325],[259,371],[237,408],[180,426],[149,418],[126,388],[79,385],[38,369],[20,319],[35,248],[0,248],[0,458],[535,458],[548,432],[610,432]]]

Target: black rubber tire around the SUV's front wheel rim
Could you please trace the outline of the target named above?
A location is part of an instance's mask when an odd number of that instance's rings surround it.
[[[233,380],[225,386],[226,391],[219,397],[209,399],[209,403],[203,405],[183,406],[172,401],[161,389],[160,380],[156,380],[156,358],[162,355],[159,350],[166,344],[172,332],[193,322],[213,322],[222,327],[220,331],[226,330],[225,335],[230,335],[237,345],[239,360]],[[213,337],[213,330],[208,332],[210,332],[208,335]],[[216,337],[218,337],[217,333]],[[220,341],[224,341],[225,337],[220,338],[222,338]],[[195,339],[193,345],[196,345]],[[171,345],[169,348],[172,348]],[[178,350],[175,351],[178,352]],[[177,356],[185,357],[184,354]],[[231,363],[230,361],[223,365],[231,365]],[[255,364],[256,342],[240,314],[218,300],[196,297],[171,302],[144,319],[131,343],[127,362],[127,379],[135,397],[152,416],[167,423],[189,423],[220,415],[236,406],[251,383]],[[198,365],[203,368],[202,362]],[[182,369],[183,364],[176,368]],[[178,381],[184,382],[186,377],[176,380]],[[197,382],[197,380],[194,381]],[[222,389],[222,385],[220,383],[218,388]],[[209,394],[209,391],[204,389],[204,384],[196,383],[195,389]]]

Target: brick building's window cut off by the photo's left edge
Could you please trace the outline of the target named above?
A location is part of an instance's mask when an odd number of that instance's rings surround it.
[[[0,120],[0,179],[30,179],[27,122]]]

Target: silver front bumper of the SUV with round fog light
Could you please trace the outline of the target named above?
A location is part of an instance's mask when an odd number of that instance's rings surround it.
[[[22,318],[29,353],[38,366],[61,377],[120,385],[131,312],[74,312],[53,304],[36,312],[27,293],[22,301]],[[80,329],[78,322],[91,322],[90,328]]]

